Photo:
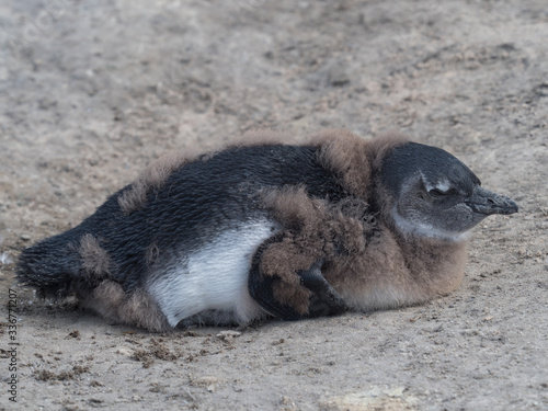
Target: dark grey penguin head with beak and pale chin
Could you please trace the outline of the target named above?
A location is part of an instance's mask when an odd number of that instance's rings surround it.
[[[404,233],[458,241],[489,215],[517,213],[516,203],[481,187],[468,167],[436,147],[396,147],[383,161],[381,181],[393,197],[393,222]]]

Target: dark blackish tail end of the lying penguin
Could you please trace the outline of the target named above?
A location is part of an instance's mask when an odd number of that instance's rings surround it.
[[[77,247],[65,235],[58,235],[24,249],[15,276],[20,284],[36,288],[39,297],[57,300],[72,292],[80,269]]]

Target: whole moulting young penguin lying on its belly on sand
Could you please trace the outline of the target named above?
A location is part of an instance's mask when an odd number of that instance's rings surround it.
[[[18,281],[150,331],[418,305],[463,281],[470,230],[517,213],[456,157],[402,135],[273,133],[156,160]]]

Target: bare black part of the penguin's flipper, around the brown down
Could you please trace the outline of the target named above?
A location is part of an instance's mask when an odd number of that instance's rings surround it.
[[[248,289],[251,297],[266,312],[284,321],[297,321],[304,318],[334,316],[346,311],[346,305],[321,273],[323,260],[315,262],[308,270],[296,272],[299,277],[297,287],[302,286],[310,292],[306,302],[306,312],[302,313],[292,304],[279,301],[274,295],[274,288],[283,279],[278,276],[263,275],[261,273],[260,256],[262,251],[264,251],[264,247],[260,248],[253,258],[248,278]]]

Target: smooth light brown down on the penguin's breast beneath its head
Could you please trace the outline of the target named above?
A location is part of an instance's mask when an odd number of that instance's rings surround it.
[[[381,227],[358,255],[326,266],[326,279],[349,307],[372,311],[424,302],[458,287],[466,244],[411,240]]]

